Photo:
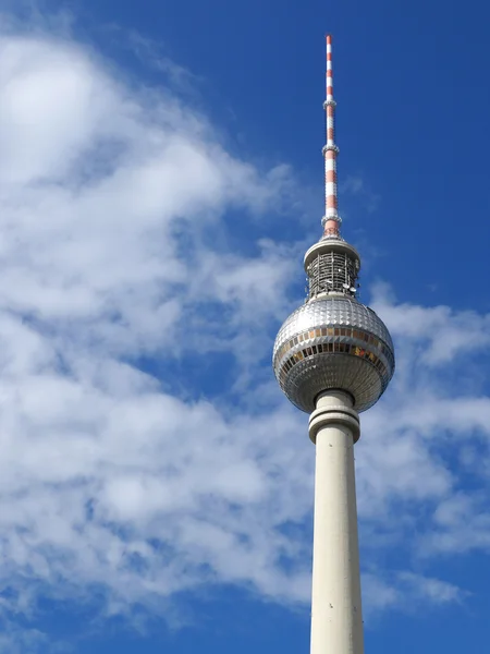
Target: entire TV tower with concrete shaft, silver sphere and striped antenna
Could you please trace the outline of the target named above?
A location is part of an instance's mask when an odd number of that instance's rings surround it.
[[[332,39],[327,36],[323,234],[305,254],[308,296],[279,330],[273,370],[281,389],[310,413],[316,445],[311,654],[363,654],[354,444],[359,413],[394,373],[390,332],[357,300],[360,257],[340,233]]]

